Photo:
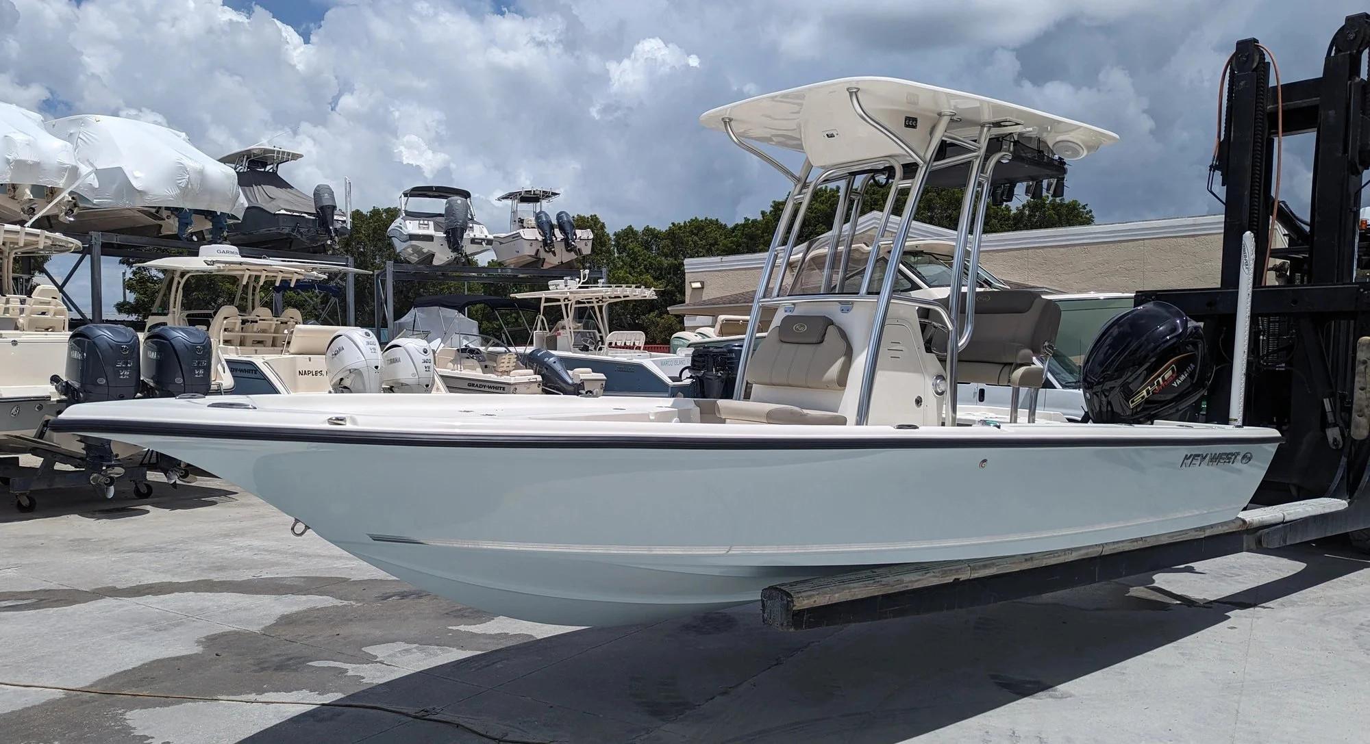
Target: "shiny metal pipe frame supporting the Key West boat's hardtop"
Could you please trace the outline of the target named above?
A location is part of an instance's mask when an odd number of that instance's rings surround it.
[[[947,416],[943,424],[954,427],[956,425],[956,356],[966,347],[967,343],[970,343],[970,335],[975,327],[975,283],[973,278],[980,275],[980,234],[985,223],[985,208],[989,202],[989,185],[993,179],[995,167],[999,163],[1004,163],[1011,159],[1011,155],[1007,150],[991,155],[989,149],[996,141],[995,130],[1017,127],[1018,122],[986,122],[980,126],[978,137],[975,140],[969,140],[947,134],[947,127],[956,120],[956,114],[952,111],[943,111],[937,115],[937,122],[933,124],[929,134],[927,145],[922,152],[918,152],[904,142],[897,133],[892,131],[878,119],[866,112],[860,103],[859,88],[848,88],[847,94],[856,116],[864,124],[888,138],[906,157],[889,156],[874,160],[838,163],[823,168],[817,175],[812,174],[812,164],[806,159],[804,164],[796,174],[774,157],[737,137],[733,131],[732,119],[723,119],[723,130],[727,133],[727,137],[733,141],[733,144],[762,159],[793,183],[789,196],[785,198],[785,207],[781,211],[780,223],[775,226],[775,234],[771,237],[771,245],[766,256],[766,263],[762,265],[760,280],[756,284],[756,297],[752,300],[752,310],[747,324],[747,335],[743,338],[741,360],[737,365],[737,379],[747,379],[747,364],[751,358],[752,349],[756,346],[756,334],[759,331],[763,306],[790,304],[795,301],[812,302],[821,300],[838,300],[844,302],[873,301],[875,302],[875,313],[867,343],[867,361],[862,365],[860,394],[858,398],[855,421],[856,425],[864,425],[870,417],[870,399],[871,387],[875,380],[875,364],[880,358],[880,345],[885,331],[885,319],[889,315],[889,302],[895,294],[895,279],[899,275],[900,258],[903,257],[904,243],[908,239],[908,230],[912,226],[914,215],[918,211],[918,202],[922,198],[923,187],[927,183],[927,174],[934,170],[970,163],[966,178],[966,196],[962,198],[960,219],[956,226],[956,243],[952,256],[952,278],[948,300],[949,312],[948,308],[943,308],[938,302],[932,300],[917,297],[899,298],[900,302],[910,302],[921,308],[926,308],[929,310],[929,316],[936,315],[947,324],[945,368],[948,383],[945,387]],[[969,152],[956,156],[944,156],[938,160],[937,152],[944,142],[958,145]],[[911,176],[906,176],[906,160],[912,160],[914,163],[914,172]],[[891,168],[895,172],[895,179],[891,183],[889,197],[885,200],[885,209],[881,215],[880,226],[875,230],[875,237],[871,241],[870,258],[867,260],[866,271],[862,275],[860,290],[854,295],[847,293],[845,276],[851,261],[852,239],[856,234],[856,216],[860,209],[860,201],[864,196],[866,186],[870,183],[870,171],[882,167]],[[854,189],[854,182],[858,174],[866,175],[863,175],[860,186],[856,191],[856,197],[854,200],[855,204],[851,209],[848,209],[848,197]],[[790,257],[793,256],[795,243],[799,239],[799,230],[804,222],[804,215],[808,211],[808,204],[819,187],[825,183],[836,181],[843,181],[843,191],[833,224],[832,246],[829,248],[827,256],[823,261],[821,293],[796,295],[796,282],[790,284],[790,294],[781,294],[785,271],[788,269]],[[880,293],[877,295],[871,295],[870,284],[874,278],[881,246],[886,242],[885,232],[889,227],[889,217],[893,212],[897,194],[904,189],[908,190],[908,196],[904,200],[904,211],[900,215],[895,238],[889,243],[891,249],[885,275],[881,280]],[[851,216],[848,220],[849,228],[844,234],[841,220],[848,216]],[[834,253],[838,246],[841,246],[841,258],[834,261]],[[833,272],[834,264],[837,268],[836,274]],[[800,268],[801,267],[803,261],[800,261]],[[796,269],[796,275],[797,272],[799,269]],[[964,293],[964,297],[962,293]],[[743,399],[745,397],[745,384],[738,384],[736,387],[734,397],[737,399]]]

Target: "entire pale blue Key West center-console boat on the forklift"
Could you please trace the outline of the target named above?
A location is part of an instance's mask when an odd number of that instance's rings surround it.
[[[1078,159],[1111,133],[889,78],[760,96],[703,123],[749,152],[806,157],[792,172],[766,156],[795,189],[744,343],[763,306],[775,320],[756,354],[743,354],[749,386],[736,399],[152,399],[74,406],[53,425],[200,465],[419,588],[560,624],[725,607],[856,566],[1151,536],[1245,506],[1275,431],[1154,420],[1197,399],[1197,354],[1119,371],[1136,380],[1122,397],[1145,420],[1011,423],[958,406],[948,380],[1008,373],[1017,387],[1040,386],[1059,319],[1040,294],[966,293],[954,280],[943,301],[896,295],[896,272],[873,282],[875,261],[836,291],[841,258],[825,261],[819,291],[784,290],[781,267],[819,186],[892,168],[900,187],[880,234],[893,232],[897,256],[927,172],[963,165],[954,276],[974,276],[975,207],[1000,183],[999,146],[1012,138]]]

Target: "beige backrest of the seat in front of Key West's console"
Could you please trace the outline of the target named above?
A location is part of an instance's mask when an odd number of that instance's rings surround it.
[[[775,324],[747,362],[747,382],[774,387],[843,390],[852,349],[832,319],[790,315]]]

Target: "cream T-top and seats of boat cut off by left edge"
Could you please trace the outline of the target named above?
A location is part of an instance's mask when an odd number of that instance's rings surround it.
[[[63,332],[70,316],[62,293],[52,284],[33,284],[29,294],[16,294],[15,260],[58,256],[81,250],[75,238],[34,227],[0,224],[0,331]]]

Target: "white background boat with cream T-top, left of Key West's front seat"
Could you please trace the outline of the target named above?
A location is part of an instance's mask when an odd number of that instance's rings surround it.
[[[616,302],[656,300],[656,290],[641,284],[589,283],[553,279],[545,290],[515,293],[538,302],[533,346],[548,349],[566,367],[604,376],[606,395],[690,395],[693,383],[684,375],[689,358],[647,350],[643,331],[611,331],[608,308]],[[556,317],[553,323],[549,319]]]

